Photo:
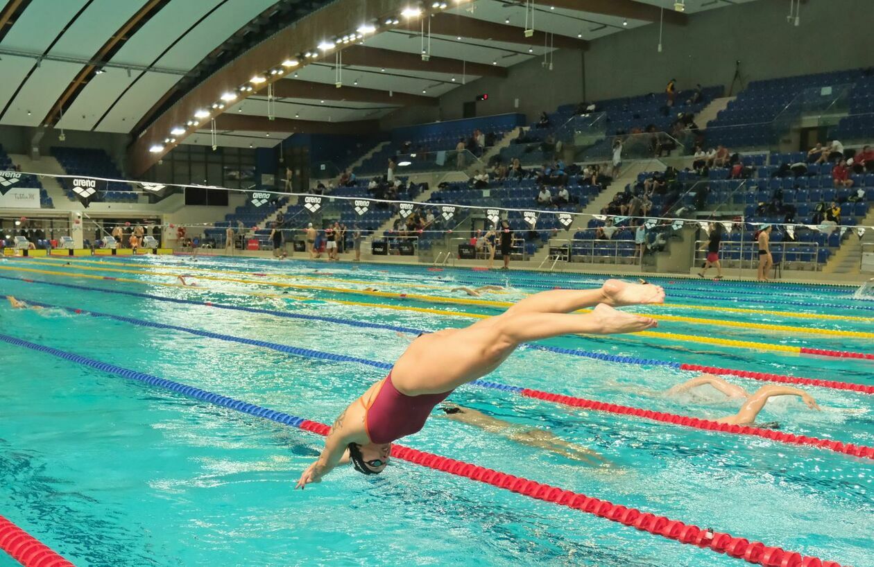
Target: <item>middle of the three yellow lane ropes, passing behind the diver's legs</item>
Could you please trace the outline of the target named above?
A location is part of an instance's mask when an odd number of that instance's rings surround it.
[[[22,263],[28,263],[30,265],[38,265],[40,263],[39,260],[35,260],[33,262],[26,262],[24,260],[17,260]],[[145,275],[157,275],[154,271],[143,270],[139,268],[121,268],[121,267],[108,267],[108,266],[73,266],[73,265],[64,265],[64,267],[75,268],[79,270],[97,270],[104,272],[118,272],[118,273],[141,273]],[[380,292],[380,291],[367,291],[367,290],[359,290],[359,289],[349,289],[346,287],[329,287],[329,286],[310,286],[305,284],[292,284],[285,283],[281,281],[270,281],[270,280],[244,280],[239,278],[220,278],[217,276],[207,276],[200,275],[198,276],[202,280],[214,280],[214,281],[232,281],[243,284],[254,284],[254,285],[266,285],[266,286],[275,286],[275,287],[291,287],[295,289],[307,289],[307,290],[317,290],[317,291],[327,291],[336,294],[363,294],[363,295],[371,295],[374,297],[385,297],[391,299],[412,299],[417,301],[426,301],[426,302],[438,302],[438,303],[454,303],[461,305],[476,305],[476,306],[484,306],[484,307],[494,307],[494,308],[509,308],[514,305],[509,301],[489,301],[489,300],[478,300],[478,299],[468,299],[468,298],[457,298],[457,297],[440,297],[438,295],[421,295],[421,294],[399,294],[396,292]],[[580,313],[586,313],[585,309],[580,309]],[[838,329],[830,329],[830,328],[811,328],[811,327],[792,327],[788,325],[776,325],[771,323],[754,323],[754,322],[737,322],[737,321],[723,321],[718,319],[703,319],[700,317],[683,317],[681,315],[654,315],[648,314],[649,317],[657,321],[671,321],[671,322],[687,322],[687,323],[696,323],[701,325],[715,325],[721,327],[732,327],[732,328],[755,328],[762,329],[768,331],[777,331],[785,334],[793,334],[793,333],[806,333],[808,335],[830,335],[830,336],[846,336],[853,338],[874,338],[874,333],[866,333],[863,331],[845,331]]]

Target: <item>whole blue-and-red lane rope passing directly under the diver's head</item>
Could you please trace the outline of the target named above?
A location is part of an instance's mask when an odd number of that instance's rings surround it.
[[[309,419],[300,418],[282,411],[274,411],[260,405],[247,404],[242,400],[228,398],[187,384],[150,376],[136,370],[128,370],[114,364],[101,363],[92,358],[87,358],[87,356],[52,349],[52,347],[46,347],[7,335],[0,335],[0,341],[44,352],[45,354],[57,356],[72,363],[101,370],[102,372],[124,377],[128,380],[157,386],[164,390],[177,392],[187,398],[205,401],[212,405],[246,413],[257,418],[264,418],[281,425],[290,425],[319,435],[327,435],[330,430],[328,425],[317,421],[310,421]],[[767,546],[761,542],[751,542],[746,538],[732,536],[723,532],[711,532],[698,528],[694,524],[672,520],[667,516],[645,513],[636,508],[628,508],[611,501],[575,493],[537,481],[530,481],[524,477],[501,473],[494,469],[478,467],[462,460],[448,459],[435,453],[427,453],[406,446],[392,445],[392,457],[406,460],[422,467],[433,468],[444,473],[468,478],[472,481],[483,482],[517,494],[524,494],[537,500],[578,509],[587,514],[597,515],[613,522],[622,523],[655,536],[662,536],[676,542],[696,545],[702,549],[744,559],[748,563],[759,564],[763,567],[842,567],[841,564],[833,561],[822,561],[818,557],[802,556],[794,551]]]

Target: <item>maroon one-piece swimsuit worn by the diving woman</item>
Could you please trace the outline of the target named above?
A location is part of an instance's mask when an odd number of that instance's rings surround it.
[[[406,396],[392,384],[389,372],[376,396],[371,399],[364,418],[364,427],[373,443],[391,443],[401,437],[419,432],[435,405],[445,400],[452,391],[439,394]]]

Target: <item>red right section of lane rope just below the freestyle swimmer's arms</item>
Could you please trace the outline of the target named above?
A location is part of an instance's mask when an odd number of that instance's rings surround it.
[[[586,410],[607,411],[609,413],[617,413],[620,415],[633,415],[638,418],[648,418],[654,421],[662,421],[664,423],[684,425],[695,429],[703,429],[705,431],[718,431],[725,433],[735,433],[738,435],[753,435],[788,443],[790,445],[810,445],[817,446],[822,449],[829,449],[836,453],[845,453],[854,457],[863,457],[866,459],[874,459],[874,447],[855,445],[853,443],[842,443],[841,441],[833,441],[829,439],[819,439],[816,437],[808,437],[807,435],[796,435],[794,433],[779,432],[773,429],[763,429],[761,427],[753,427],[751,425],[728,425],[721,424],[711,419],[692,418],[690,416],[678,415],[676,413],[668,413],[666,411],[643,410],[637,407],[628,405],[607,404],[605,402],[596,402],[586,398],[576,398],[574,396],[564,396],[548,391],[531,390],[523,388],[518,392],[522,396],[528,398],[542,399],[547,402],[555,402],[557,404],[571,405],[573,407],[581,407]]]

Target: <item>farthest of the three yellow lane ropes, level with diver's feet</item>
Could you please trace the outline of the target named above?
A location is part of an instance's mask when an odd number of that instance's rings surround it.
[[[46,261],[46,260],[54,261],[54,262],[65,261],[64,258],[57,258],[57,257],[51,257],[51,256],[41,258],[41,259],[38,259],[35,261]],[[98,266],[107,266],[107,262],[101,261],[101,260],[76,259],[75,261],[77,264],[86,263],[86,264],[96,264]],[[170,273],[173,273],[175,275],[178,272],[177,267],[184,267],[185,271],[188,271],[188,272],[230,273],[230,274],[234,274],[234,275],[247,275],[247,276],[253,275],[252,272],[240,272],[240,271],[236,271],[236,270],[220,270],[218,268],[205,268],[205,267],[193,267],[193,266],[176,266],[176,267],[174,267],[174,266],[149,266],[148,269],[155,270],[155,271],[170,272]],[[367,285],[367,286],[400,286],[400,285],[403,285],[406,287],[420,287],[420,288],[427,288],[427,289],[442,289],[442,290],[449,290],[449,289],[452,289],[453,287],[461,287],[461,286],[452,286],[452,285],[450,285],[450,286],[429,286],[426,284],[406,283],[406,281],[403,284],[399,284],[396,281],[347,280],[345,278],[327,277],[327,274],[326,275],[311,275],[311,276],[309,276],[309,275],[298,275],[298,274],[271,273],[269,275],[270,275],[270,277],[277,277],[277,278],[282,278],[282,279],[303,279],[303,280],[320,280],[320,281],[328,280],[328,281],[337,281],[337,282],[342,282],[342,283],[361,284],[361,285]],[[506,294],[507,292],[492,291],[490,293]],[[528,296],[531,294],[523,294],[523,295]],[[407,295],[407,297],[409,297],[409,295]],[[509,306],[509,305],[512,305],[512,304],[511,303],[503,303],[501,305],[501,307]],[[725,307],[718,307],[718,306],[689,305],[689,304],[680,304],[680,303],[662,303],[662,304],[651,305],[649,307],[676,308],[676,309],[699,309],[699,310],[706,310],[706,311],[719,311],[719,312],[725,312],[725,313],[743,313],[743,314],[751,314],[751,315],[775,315],[775,316],[781,316],[781,317],[792,317],[795,319],[874,322],[874,317],[860,317],[860,316],[855,316],[855,315],[810,314],[810,313],[797,313],[797,312],[790,312],[790,311],[773,311],[773,310],[767,310],[767,309],[725,308]],[[725,322],[718,322],[718,323],[714,323],[714,324],[723,324],[723,323],[725,323]],[[744,326],[746,327],[748,325],[746,323],[744,323]],[[796,329],[796,328],[792,327],[791,329]]]

